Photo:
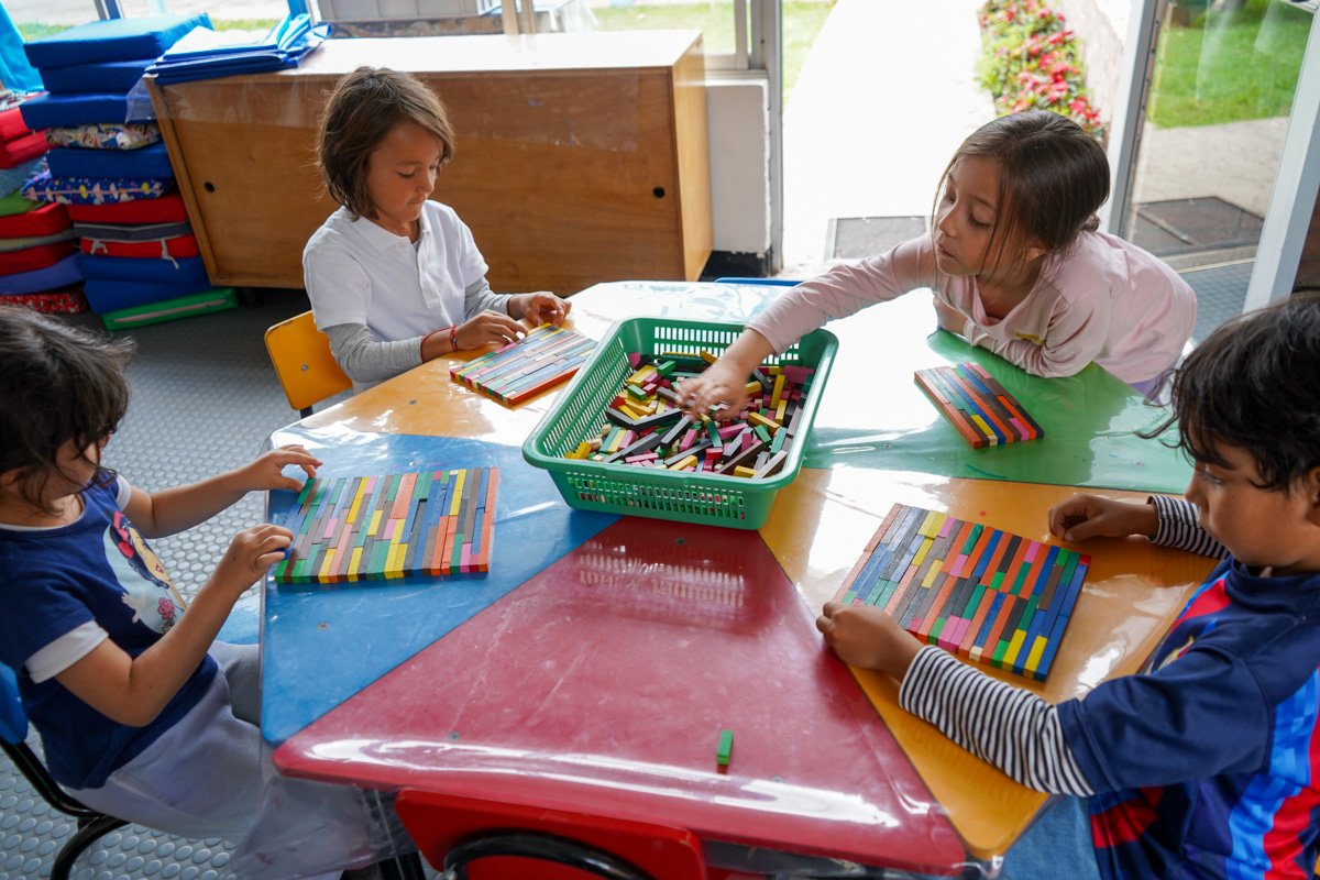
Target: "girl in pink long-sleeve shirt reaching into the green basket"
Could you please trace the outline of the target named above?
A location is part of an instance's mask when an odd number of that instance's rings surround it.
[[[1105,150],[1044,111],[969,136],[944,173],[933,232],[787,290],[725,355],[684,383],[685,405],[738,404],[747,376],[832,318],[931,288],[942,329],[1030,373],[1090,361],[1148,391],[1192,334],[1196,296],[1142,248],[1097,232]]]

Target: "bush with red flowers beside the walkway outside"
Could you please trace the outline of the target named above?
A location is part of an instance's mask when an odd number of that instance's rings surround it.
[[[986,0],[981,7],[981,82],[995,110],[1049,110],[1101,137],[1100,111],[1086,96],[1081,44],[1063,15],[1040,0]]]

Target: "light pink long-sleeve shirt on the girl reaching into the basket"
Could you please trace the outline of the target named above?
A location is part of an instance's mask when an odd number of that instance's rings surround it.
[[[1027,298],[999,319],[982,307],[975,277],[936,269],[923,235],[785,290],[747,326],[783,351],[826,321],[919,288],[968,315],[969,342],[1038,376],[1071,376],[1096,361],[1126,383],[1154,379],[1177,360],[1196,322],[1196,294],[1166,263],[1084,232],[1047,257]]]

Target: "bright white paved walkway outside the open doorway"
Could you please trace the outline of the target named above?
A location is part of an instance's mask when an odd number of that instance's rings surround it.
[[[928,216],[994,119],[975,82],[981,0],[838,0],[784,112],[784,274],[824,265],[830,218]]]

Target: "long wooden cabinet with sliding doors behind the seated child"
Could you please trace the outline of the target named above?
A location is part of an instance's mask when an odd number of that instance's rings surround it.
[[[331,40],[297,70],[150,82],[215,284],[302,286],[302,247],[335,210],[317,120],[359,65],[408,70],[449,110],[457,152],[434,198],[458,211],[496,292],[696,280],[710,172],[696,30]]]

